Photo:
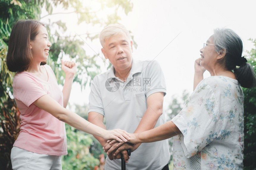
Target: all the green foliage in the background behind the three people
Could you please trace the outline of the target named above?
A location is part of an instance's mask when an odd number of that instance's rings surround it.
[[[104,18],[97,15],[93,4],[100,4],[99,10],[107,10],[108,15]],[[85,5],[86,4],[86,5]],[[75,13],[78,24],[85,24],[90,28],[103,27],[109,23],[121,20],[120,13],[128,14],[132,11],[133,4],[129,0],[0,0],[0,169],[11,169],[10,150],[19,132],[19,111],[12,96],[12,78],[14,73],[9,72],[5,64],[5,56],[8,49],[8,40],[13,24],[19,19],[41,20],[46,16],[54,16],[57,13]],[[60,11],[56,12],[58,8]],[[41,16],[42,10],[46,15]],[[68,56],[76,58],[78,72],[74,79],[81,88],[90,83],[92,78],[100,73],[100,65],[96,62],[99,54],[88,55],[83,49],[84,40],[93,41],[98,38],[97,33],[88,32],[83,35],[71,35],[67,33],[67,27],[61,20],[53,21],[51,17],[47,22],[52,47],[47,64],[56,74],[58,83],[63,85],[64,74],[60,69],[60,58]],[[249,51],[247,59],[255,66],[255,48]],[[136,43],[135,43],[136,47]],[[245,150],[244,169],[255,169],[256,146],[255,139],[255,109],[256,90],[243,89],[244,91],[244,126],[245,126]],[[173,96],[169,109],[166,111],[171,119],[183,107],[188,96],[184,91],[180,96]],[[85,106],[75,106],[75,112],[87,118]],[[68,137],[68,155],[63,156],[63,169],[99,169],[101,165],[100,155],[104,155],[99,142],[91,135],[66,126]],[[172,139],[169,140],[170,152],[172,153]],[[106,155],[104,155],[106,156]],[[172,158],[172,156],[171,156]]]

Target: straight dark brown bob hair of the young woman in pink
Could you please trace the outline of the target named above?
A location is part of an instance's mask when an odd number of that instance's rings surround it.
[[[45,26],[37,20],[19,20],[12,29],[6,63],[9,71],[23,72],[29,68],[33,60],[30,41],[39,33],[39,27]],[[46,62],[41,62],[41,65]]]

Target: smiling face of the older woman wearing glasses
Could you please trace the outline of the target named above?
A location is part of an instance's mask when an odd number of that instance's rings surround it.
[[[215,46],[213,44],[213,37],[207,40],[204,45],[204,48],[200,50],[201,61],[200,65],[205,67],[206,70],[210,71],[214,68],[215,63],[217,62],[218,53],[215,51]]]

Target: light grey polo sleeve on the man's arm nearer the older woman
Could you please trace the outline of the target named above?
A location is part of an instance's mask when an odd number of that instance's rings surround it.
[[[160,64],[157,61],[151,61],[146,68],[146,77],[143,77],[143,83],[146,89],[146,97],[156,92],[163,92],[166,95],[166,82]]]

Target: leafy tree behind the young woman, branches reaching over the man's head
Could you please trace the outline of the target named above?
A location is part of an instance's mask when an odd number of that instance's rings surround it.
[[[92,3],[98,4],[98,11],[94,11]],[[20,19],[40,20],[43,9],[47,14],[42,17],[54,16],[58,13],[55,12],[56,7],[61,7],[62,13],[75,13],[78,24],[103,27],[109,23],[117,23],[121,19],[121,13],[127,15],[132,10],[132,3],[129,0],[0,0],[0,169],[11,169],[10,150],[19,132],[19,111],[12,96],[14,73],[9,72],[5,64],[11,28]],[[104,13],[104,18],[100,17],[98,12],[105,10],[107,12]],[[61,20],[51,21],[50,17],[48,21],[46,26],[51,30],[49,39],[52,46],[47,64],[56,74],[58,83],[63,84],[65,75],[61,71],[59,58],[76,58],[78,73],[74,81],[84,88],[100,72],[100,66],[96,63],[98,54],[87,55],[82,47],[84,41],[79,35],[69,35],[66,24]],[[93,41],[97,37],[98,33],[87,33],[86,40]],[[77,136],[77,140],[79,137]]]

